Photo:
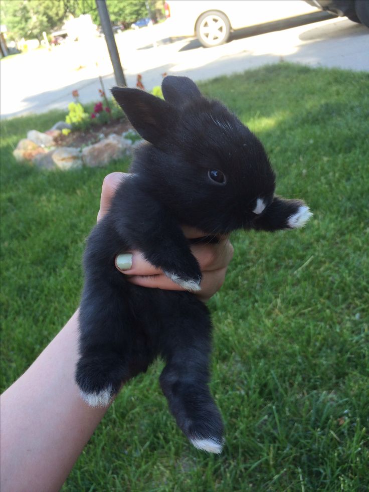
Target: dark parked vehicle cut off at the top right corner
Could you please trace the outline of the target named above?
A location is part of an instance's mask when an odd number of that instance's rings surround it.
[[[368,0],[305,0],[309,5],[318,7],[339,17],[347,17],[369,27]]]

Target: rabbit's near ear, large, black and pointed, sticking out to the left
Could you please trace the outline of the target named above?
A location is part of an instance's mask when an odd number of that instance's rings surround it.
[[[142,138],[159,143],[175,121],[176,110],[162,99],[141,89],[113,87],[111,92]]]

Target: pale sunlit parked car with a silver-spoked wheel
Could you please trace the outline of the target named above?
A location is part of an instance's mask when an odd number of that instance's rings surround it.
[[[168,37],[196,36],[203,46],[226,43],[233,30],[317,12],[301,0],[168,0]]]

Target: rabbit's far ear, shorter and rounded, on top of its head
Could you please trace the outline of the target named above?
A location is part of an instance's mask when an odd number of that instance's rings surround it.
[[[167,75],[163,78],[161,90],[165,101],[178,108],[202,97],[198,86],[188,77]]]

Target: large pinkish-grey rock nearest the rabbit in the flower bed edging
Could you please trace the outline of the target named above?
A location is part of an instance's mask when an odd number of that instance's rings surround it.
[[[86,166],[94,168],[96,166],[106,166],[111,160],[119,159],[126,153],[127,146],[123,139],[115,135],[100,142],[89,145],[82,150],[82,159]]]

